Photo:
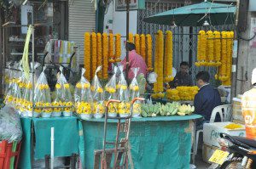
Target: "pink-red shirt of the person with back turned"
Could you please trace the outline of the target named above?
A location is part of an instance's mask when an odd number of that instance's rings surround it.
[[[124,71],[126,70],[126,57],[121,62],[124,65]],[[131,80],[134,77],[132,68],[139,68],[138,74],[143,73],[144,76],[147,74],[147,65],[143,59],[143,57],[136,53],[135,50],[129,52],[129,66],[130,69],[128,71],[128,78]]]

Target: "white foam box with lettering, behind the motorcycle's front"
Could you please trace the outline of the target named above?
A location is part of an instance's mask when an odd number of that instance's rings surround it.
[[[246,136],[244,125],[241,125],[243,128],[235,129],[235,130],[224,128],[230,123],[233,123],[233,122],[228,121],[228,122],[205,123],[203,127],[204,144],[220,147],[217,141],[217,138],[219,138],[220,132],[230,134],[231,136],[241,136],[241,137]]]

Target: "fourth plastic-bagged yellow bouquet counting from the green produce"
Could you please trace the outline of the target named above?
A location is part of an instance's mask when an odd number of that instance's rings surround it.
[[[102,118],[105,113],[103,88],[97,76],[97,72],[100,70],[102,70],[102,66],[97,67],[90,87],[93,99],[93,116],[95,118]]]

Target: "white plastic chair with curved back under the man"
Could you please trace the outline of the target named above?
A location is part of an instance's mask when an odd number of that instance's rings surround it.
[[[231,104],[223,104],[223,105],[218,105],[212,110],[212,115],[209,123],[212,123],[215,121],[216,115],[220,115],[220,121],[230,121],[231,119]],[[198,140],[200,133],[203,133],[203,130],[198,130],[195,133],[195,155],[197,155],[197,148],[198,148]]]

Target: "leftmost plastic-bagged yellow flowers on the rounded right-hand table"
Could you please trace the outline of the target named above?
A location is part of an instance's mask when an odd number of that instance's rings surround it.
[[[77,114],[81,119],[91,118],[92,97],[90,93],[90,82],[84,77],[85,69],[82,68],[80,81],[76,84],[74,100]]]

